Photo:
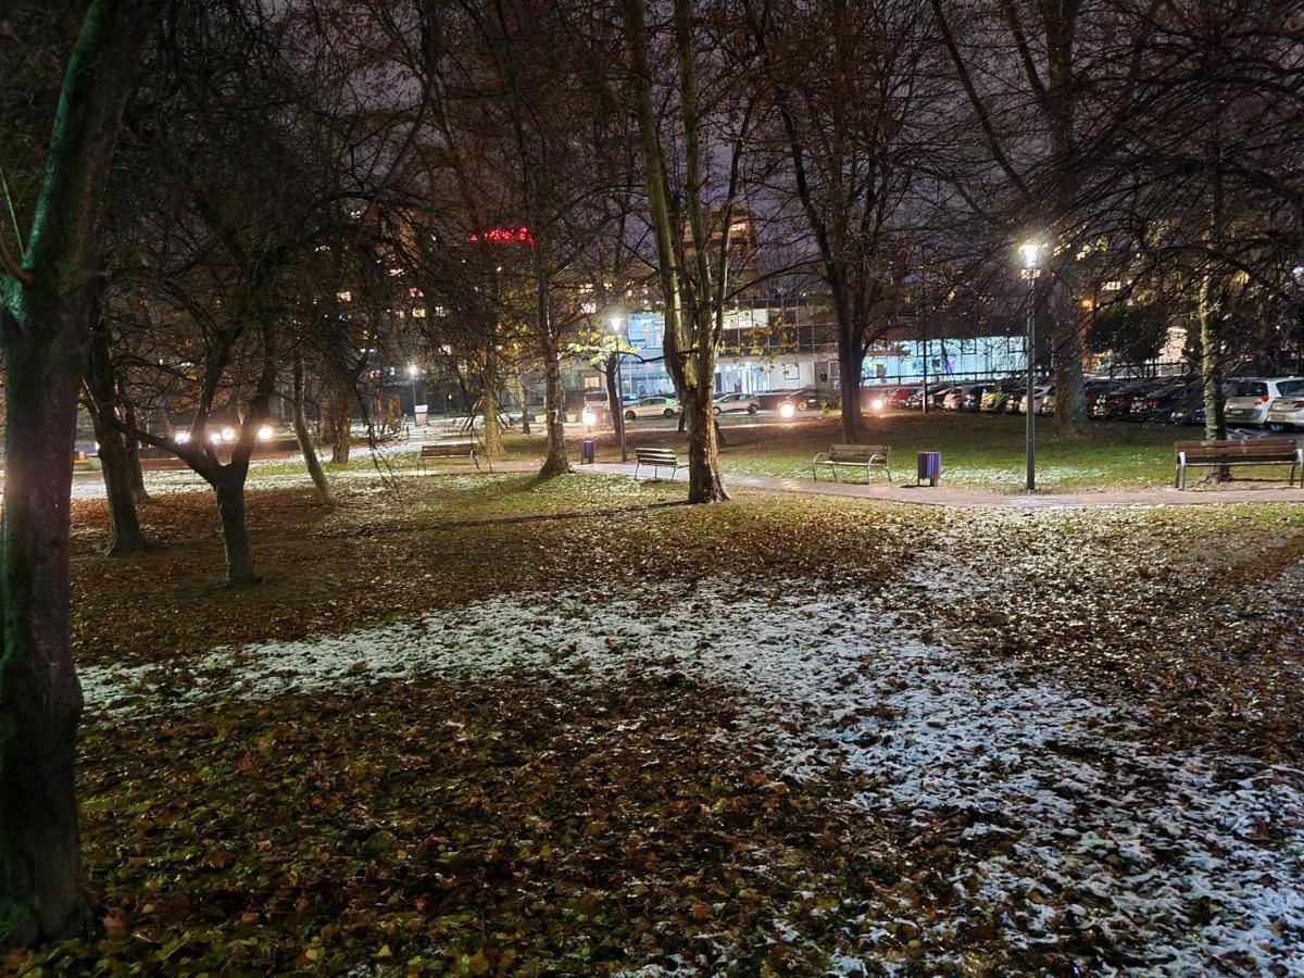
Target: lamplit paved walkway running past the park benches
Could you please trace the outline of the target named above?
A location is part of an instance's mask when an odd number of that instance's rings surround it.
[[[632,476],[632,464],[599,462],[575,466],[578,472]],[[681,469],[677,476],[682,480]],[[806,496],[837,496],[853,499],[883,499],[921,506],[983,506],[999,509],[1054,509],[1063,506],[1200,506],[1210,503],[1304,503],[1304,489],[1283,484],[1239,484],[1235,489],[1112,489],[1088,493],[1037,493],[1035,496],[994,493],[983,489],[957,489],[945,484],[938,488],[915,488],[913,481],[897,482],[819,482],[810,479],[776,476],[743,476],[725,473],[726,489],[760,489]]]

